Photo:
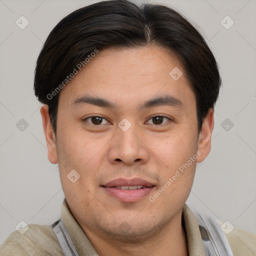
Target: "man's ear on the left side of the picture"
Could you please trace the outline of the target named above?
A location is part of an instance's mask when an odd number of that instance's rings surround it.
[[[53,131],[53,127],[50,123],[50,117],[48,112],[48,105],[43,105],[40,108],[40,113],[42,116],[42,125],[44,136],[46,139],[47,149],[48,149],[48,159],[51,163],[57,163],[57,147],[56,147],[56,138]]]

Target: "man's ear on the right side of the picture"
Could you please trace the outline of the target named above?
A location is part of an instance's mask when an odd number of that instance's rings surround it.
[[[203,120],[202,128],[198,137],[197,150],[198,154],[197,162],[203,161],[210,152],[211,133],[214,126],[214,111],[209,109],[206,117]]]

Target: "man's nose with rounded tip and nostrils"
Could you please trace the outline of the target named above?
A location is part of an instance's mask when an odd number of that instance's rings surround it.
[[[135,124],[123,131],[116,128],[116,135],[110,141],[109,161],[113,164],[143,164],[148,161],[149,148],[145,144],[142,131],[135,129]]]

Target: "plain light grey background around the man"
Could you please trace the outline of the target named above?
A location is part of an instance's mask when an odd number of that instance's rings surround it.
[[[57,22],[94,2],[0,0],[0,243],[20,220],[51,224],[60,217],[64,195],[57,166],[47,159],[33,72],[42,44]],[[197,164],[187,204],[256,232],[256,1],[154,2],[174,7],[199,26],[223,81],[211,152]],[[24,29],[15,24],[21,15],[29,21]],[[229,29],[220,23],[226,15],[234,21]],[[21,118],[29,124],[23,131],[15,125]],[[221,127],[226,118],[234,124],[228,131]]]

